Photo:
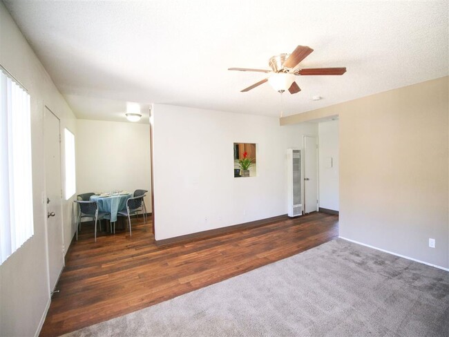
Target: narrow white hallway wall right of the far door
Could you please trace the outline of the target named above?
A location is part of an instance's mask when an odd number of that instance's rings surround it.
[[[338,211],[338,120],[318,124],[319,206]]]

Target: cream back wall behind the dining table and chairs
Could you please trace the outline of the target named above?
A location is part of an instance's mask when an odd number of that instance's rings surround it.
[[[150,125],[77,120],[77,194],[145,189],[151,212]]]

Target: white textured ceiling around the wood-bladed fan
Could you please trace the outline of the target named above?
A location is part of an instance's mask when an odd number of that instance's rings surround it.
[[[298,44],[301,68],[347,73],[298,77],[284,115],[448,75],[447,0],[3,2],[79,118],[124,120],[126,102],[276,117],[269,84],[240,93],[265,74],[227,68]]]

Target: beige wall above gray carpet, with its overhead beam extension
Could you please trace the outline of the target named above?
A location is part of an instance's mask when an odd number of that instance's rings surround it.
[[[449,268],[448,99],[442,77],[281,120],[339,115],[341,237]]]

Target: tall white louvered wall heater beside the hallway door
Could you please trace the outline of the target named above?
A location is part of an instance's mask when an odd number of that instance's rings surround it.
[[[301,151],[298,148],[287,149],[287,190],[288,215],[294,217],[303,215],[301,179]]]

